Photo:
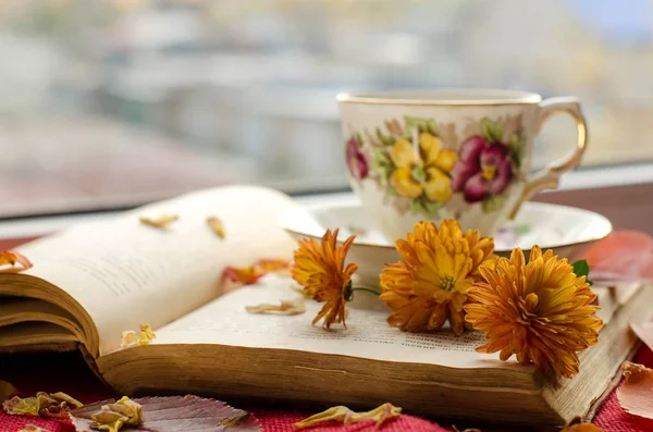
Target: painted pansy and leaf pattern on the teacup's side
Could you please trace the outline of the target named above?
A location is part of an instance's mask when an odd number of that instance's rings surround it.
[[[484,212],[495,211],[519,178],[525,146],[520,118],[472,122],[461,144],[453,123],[406,116],[384,126],[373,134],[365,131],[366,141],[360,134],[350,136],[347,166],[357,181],[375,181],[401,213],[439,218],[456,195],[461,203],[480,202]]]

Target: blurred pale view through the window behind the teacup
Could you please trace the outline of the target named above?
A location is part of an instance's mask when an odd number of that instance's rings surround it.
[[[652,0],[0,0],[0,218],[346,188],[345,90],[575,95],[583,169],[653,160]]]

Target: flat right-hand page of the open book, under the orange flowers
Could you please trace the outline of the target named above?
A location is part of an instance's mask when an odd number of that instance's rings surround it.
[[[423,362],[456,368],[513,367],[497,355],[482,355],[482,334],[455,336],[448,329],[438,334],[405,333],[390,326],[390,309],[373,295],[357,292],[347,305],[347,328],[328,331],[311,325],[322,304],[306,299],[299,316],[251,314],[245,306],[300,298],[289,277],[268,275],[257,285],[229,293],[157,332],[156,344],[219,344],[244,347],[297,349],[361,358]]]

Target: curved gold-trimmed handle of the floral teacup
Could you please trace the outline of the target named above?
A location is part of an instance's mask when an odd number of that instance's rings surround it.
[[[550,98],[540,102],[540,125],[538,132],[542,128],[542,125],[546,120],[551,119],[555,114],[565,113],[571,115],[576,121],[576,127],[578,128],[578,140],[574,150],[571,150],[565,157],[553,161],[544,168],[541,172],[534,174],[523,187],[521,196],[515,203],[515,207],[510,211],[508,218],[515,219],[519,208],[523,201],[530,199],[535,193],[543,189],[555,189],[558,186],[560,175],[567,171],[571,171],[578,166],[582,153],[588,146],[588,127],[586,120],[580,111],[580,102],[575,97],[560,97]]]

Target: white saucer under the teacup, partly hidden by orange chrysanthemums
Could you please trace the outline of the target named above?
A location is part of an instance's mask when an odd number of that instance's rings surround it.
[[[356,234],[347,260],[358,264],[356,274],[362,284],[378,285],[383,264],[399,259],[394,240],[375,227],[356,197],[293,209],[282,214],[280,224],[295,239],[320,239],[326,229],[340,229],[341,242]],[[593,211],[527,201],[515,220],[496,232],[494,249],[507,257],[513,248],[520,247],[528,258],[532,245],[539,245],[543,250],[553,249],[560,257],[570,257],[611,232],[609,220]]]

